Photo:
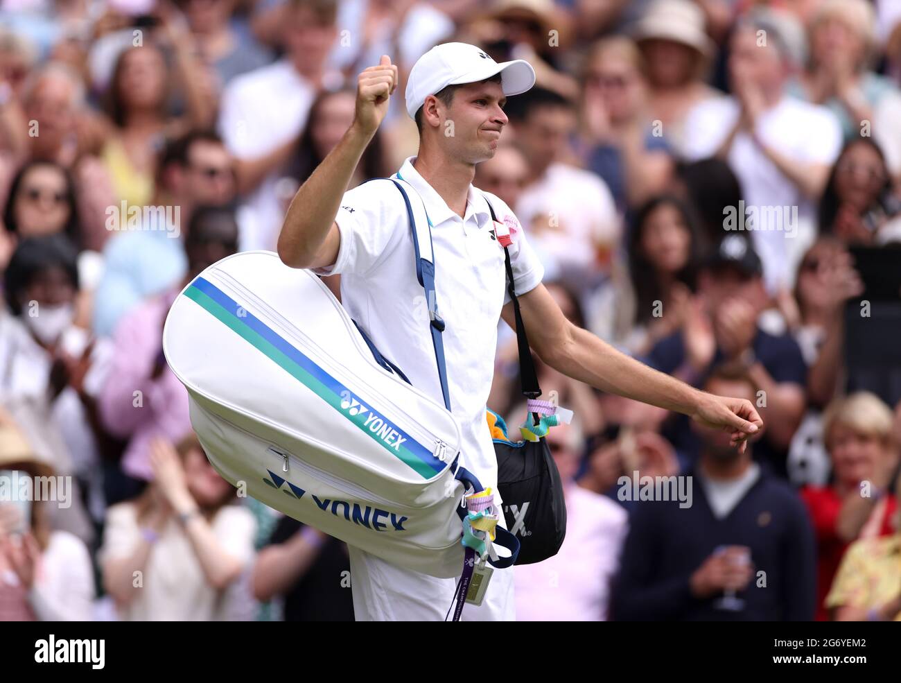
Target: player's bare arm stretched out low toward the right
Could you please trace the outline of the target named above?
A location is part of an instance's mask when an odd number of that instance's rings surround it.
[[[551,294],[539,285],[519,296],[529,343],[551,368],[592,387],[643,403],[657,405],[708,426],[732,433],[733,444],[757,432],[763,421],[750,401],[714,396],[676,378],[651,369],[596,335],[576,327],[563,315]],[[513,303],[504,306],[503,317],[515,329]]]

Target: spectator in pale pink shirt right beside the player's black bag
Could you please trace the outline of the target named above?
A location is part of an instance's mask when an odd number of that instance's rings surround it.
[[[576,484],[584,442],[578,423],[545,437],[566,500],[566,538],[552,558],[514,568],[517,621],[605,621],[627,514],[606,496]]]

